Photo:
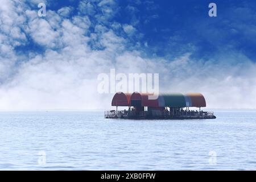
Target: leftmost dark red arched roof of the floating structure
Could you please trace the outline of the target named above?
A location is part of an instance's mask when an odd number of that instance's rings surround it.
[[[130,106],[130,93],[117,92],[112,99],[112,106]]]

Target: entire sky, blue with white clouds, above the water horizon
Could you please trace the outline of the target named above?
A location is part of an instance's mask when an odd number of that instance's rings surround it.
[[[209,107],[256,108],[254,1],[1,3],[0,109],[104,109],[97,75],[111,68],[159,73],[162,91],[201,92]]]

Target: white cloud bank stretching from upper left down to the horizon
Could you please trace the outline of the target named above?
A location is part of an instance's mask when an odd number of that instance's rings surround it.
[[[45,18],[37,3],[1,2],[1,110],[109,109],[113,94],[97,92],[97,76],[111,68],[159,73],[160,91],[201,92],[208,107],[256,108],[256,65],[241,52],[196,59],[191,48],[169,59],[149,56],[146,43],[134,41],[143,36],[136,23],[113,19],[114,0],[80,1],[76,10],[47,10]]]

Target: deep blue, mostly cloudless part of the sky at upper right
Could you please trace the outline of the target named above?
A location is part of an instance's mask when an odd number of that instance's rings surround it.
[[[109,1],[110,2],[110,1]],[[71,8],[67,18],[86,15],[93,24],[99,23],[97,15],[106,15],[100,24],[112,28],[112,23],[129,24],[136,30],[129,40],[133,46],[146,51],[148,56],[177,56],[193,51],[192,56],[209,59],[222,51],[238,51],[250,59],[255,59],[253,49],[256,41],[254,1],[214,1],[217,17],[208,16],[208,5],[212,1],[116,1],[106,7],[112,9],[104,13],[97,9],[98,1],[47,1],[47,9],[58,11]],[[30,5],[36,9],[36,4]],[[114,7],[114,10],[113,10]],[[115,30],[120,36],[127,36],[123,30]],[[28,47],[34,45],[28,42]],[[147,46],[145,46],[147,45]],[[100,47],[97,47],[100,48]]]

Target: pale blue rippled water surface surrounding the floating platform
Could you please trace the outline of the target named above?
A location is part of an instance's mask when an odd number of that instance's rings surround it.
[[[256,112],[134,121],[104,112],[1,112],[0,169],[256,169]]]

